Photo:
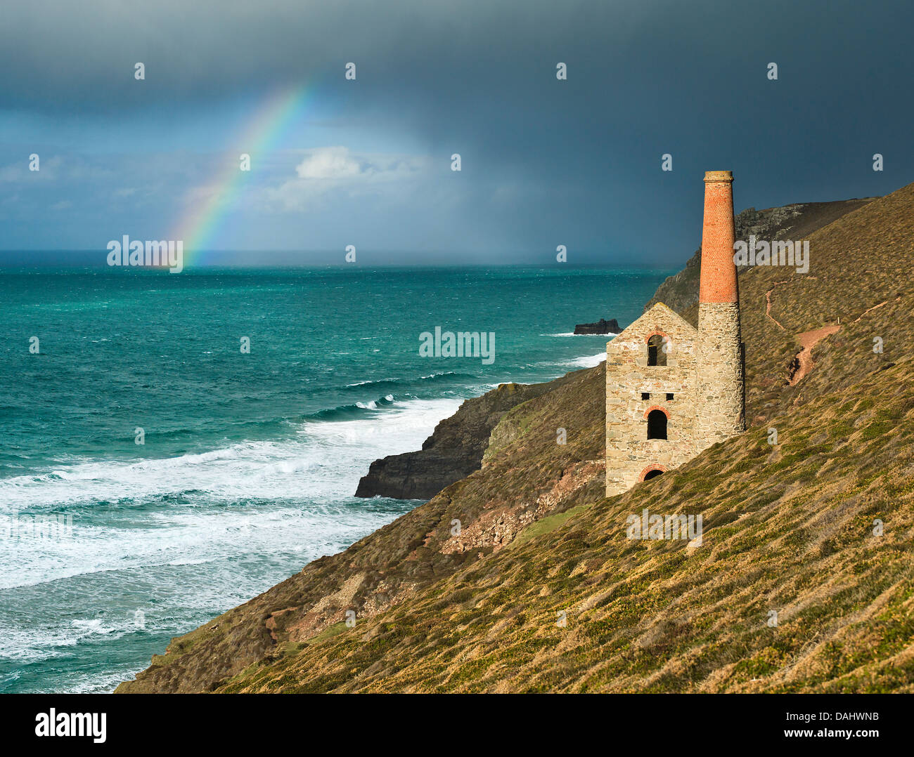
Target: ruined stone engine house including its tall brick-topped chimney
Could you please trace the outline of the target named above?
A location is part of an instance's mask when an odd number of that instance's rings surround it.
[[[606,495],[745,430],[733,174],[705,173],[698,328],[658,302],[606,346]]]

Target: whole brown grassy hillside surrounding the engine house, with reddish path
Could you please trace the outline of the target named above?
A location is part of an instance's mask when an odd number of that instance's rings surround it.
[[[809,274],[739,277],[745,435],[606,499],[603,371],[572,374],[481,470],[119,690],[914,690],[914,184],[810,240]],[[838,319],[789,385],[801,334]],[[702,545],[627,539],[644,508],[701,513]]]

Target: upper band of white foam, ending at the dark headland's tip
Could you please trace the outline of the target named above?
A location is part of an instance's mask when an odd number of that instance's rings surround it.
[[[297,438],[282,442],[241,442],[133,462],[87,461],[39,476],[5,478],[0,514],[197,491],[222,501],[345,497],[352,493],[352,475],[367,470],[366,461],[418,449],[459,405],[454,399],[411,400],[370,418],[305,422],[297,427]]]

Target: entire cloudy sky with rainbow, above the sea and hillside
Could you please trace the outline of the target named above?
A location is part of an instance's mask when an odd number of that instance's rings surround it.
[[[547,264],[565,245],[572,264],[677,266],[706,170],[734,172],[737,211],[914,181],[912,9],[5,0],[0,248],[180,233],[248,263],[355,245]]]

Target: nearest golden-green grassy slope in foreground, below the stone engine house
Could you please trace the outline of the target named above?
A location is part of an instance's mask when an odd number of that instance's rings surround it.
[[[220,690],[914,690],[914,389],[900,365],[858,388],[779,417],[779,447],[757,429],[612,499],[598,479],[516,546]],[[702,512],[702,546],[626,539],[643,508]]]

